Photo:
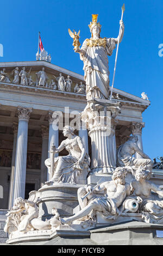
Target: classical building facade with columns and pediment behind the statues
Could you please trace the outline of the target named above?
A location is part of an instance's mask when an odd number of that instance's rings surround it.
[[[57,116],[53,113],[61,113],[61,127],[68,124],[85,108],[86,95],[82,75],[42,60],[1,63],[0,72],[0,209],[10,209],[15,198],[28,198],[30,191],[39,190],[48,179],[44,163],[48,151],[64,139],[62,130],[54,129]],[[116,157],[116,148],[131,134],[138,136],[143,149],[142,113],[150,102],[116,88],[113,95],[121,102],[113,127]],[[87,131],[76,132],[91,157]],[[160,184],[162,174],[154,171],[153,179]]]

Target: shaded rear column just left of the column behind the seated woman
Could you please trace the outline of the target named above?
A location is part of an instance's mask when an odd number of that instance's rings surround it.
[[[41,154],[41,187],[47,181],[47,167],[45,166],[45,160],[48,158],[48,139],[49,139],[49,127],[42,125],[41,126],[42,133],[42,154]]]

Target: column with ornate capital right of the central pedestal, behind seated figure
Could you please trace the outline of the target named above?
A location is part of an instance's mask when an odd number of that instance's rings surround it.
[[[138,138],[137,146],[143,151],[143,144],[142,144],[142,128],[145,127],[145,123],[137,123],[133,122],[131,124],[131,132],[133,135],[136,135]],[[142,158],[141,155],[135,153],[136,158]]]

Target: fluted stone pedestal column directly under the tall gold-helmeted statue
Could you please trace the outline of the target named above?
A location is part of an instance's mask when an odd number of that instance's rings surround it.
[[[82,114],[91,137],[91,173],[109,174],[116,168],[116,115],[120,113],[120,102],[113,100],[91,100]]]

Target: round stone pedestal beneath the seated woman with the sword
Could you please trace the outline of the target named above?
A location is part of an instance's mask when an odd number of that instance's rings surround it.
[[[42,201],[39,203],[39,218],[43,221],[52,217],[52,208],[58,209],[60,217],[72,216],[78,205],[77,191],[83,185],[56,183],[40,188]]]

